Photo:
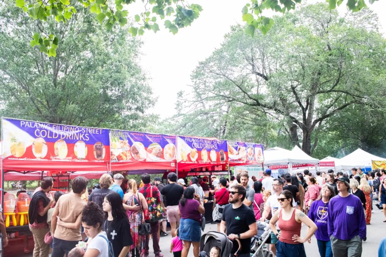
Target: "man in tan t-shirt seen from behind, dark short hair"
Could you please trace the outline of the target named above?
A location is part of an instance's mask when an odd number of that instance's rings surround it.
[[[51,257],[67,255],[82,240],[80,225],[86,202],[81,195],[87,190],[87,182],[85,177],[76,177],[71,183],[72,192],[61,196],[56,203],[51,218],[54,235]]]

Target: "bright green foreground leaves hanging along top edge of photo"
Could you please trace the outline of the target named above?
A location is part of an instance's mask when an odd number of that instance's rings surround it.
[[[366,2],[375,1],[347,0],[347,7],[356,12],[366,7]],[[60,39],[54,31],[43,29],[41,26],[49,20],[49,17],[55,18],[58,23],[66,23],[84,7],[88,12],[95,13],[95,18],[106,29],[112,29],[115,24],[121,26],[127,24],[130,4],[134,2],[135,0],[15,0],[15,5],[37,21],[38,30],[30,39],[31,46],[37,45],[41,52],[55,56]],[[203,10],[200,5],[188,4],[184,0],[142,0],[142,2],[144,11],[135,14],[137,25],[132,25],[129,29],[133,36],[143,35],[145,30],[157,32],[160,30],[157,20],[164,20],[164,27],[176,34],[178,29],[190,26]],[[327,2],[330,9],[335,9],[344,0],[327,0]],[[274,20],[262,16],[264,9],[285,13],[295,9],[299,3],[301,0],[249,0],[241,10],[243,21],[247,24],[245,33],[253,37],[255,30],[258,29],[265,34],[272,27]]]

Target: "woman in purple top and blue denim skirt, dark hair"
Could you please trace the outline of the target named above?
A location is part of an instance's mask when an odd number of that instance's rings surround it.
[[[181,215],[178,238],[184,241],[181,256],[187,257],[190,245],[193,244],[193,255],[198,257],[201,240],[201,214],[205,213],[205,209],[193,186],[185,189],[178,208]]]

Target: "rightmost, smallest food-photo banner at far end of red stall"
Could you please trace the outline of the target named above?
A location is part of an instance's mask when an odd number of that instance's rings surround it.
[[[230,163],[261,164],[264,161],[262,144],[227,140]]]

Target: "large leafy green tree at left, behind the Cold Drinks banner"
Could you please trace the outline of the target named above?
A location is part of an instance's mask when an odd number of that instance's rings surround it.
[[[154,104],[137,63],[141,42],[127,27],[98,27],[93,15],[36,24],[14,3],[1,4],[0,101],[3,116],[71,125],[141,129]],[[56,34],[48,58],[26,41],[38,27]],[[42,47],[42,45],[41,45]]]

